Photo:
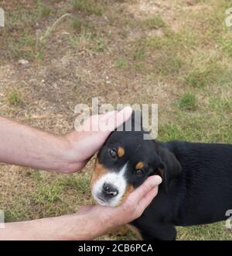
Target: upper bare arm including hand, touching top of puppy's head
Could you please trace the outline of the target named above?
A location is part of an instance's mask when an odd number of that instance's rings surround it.
[[[109,121],[114,130],[129,116],[131,108],[125,108],[121,112],[90,116],[83,125]],[[0,162],[72,173],[87,164],[110,133],[110,130],[75,130],[59,136],[0,117]]]

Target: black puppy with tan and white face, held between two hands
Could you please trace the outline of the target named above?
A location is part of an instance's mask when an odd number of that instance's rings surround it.
[[[97,154],[94,199],[118,206],[148,176],[161,175],[158,195],[130,223],[144,240],[175,240],[175,226],[225,220],[232,209],[232,145],[144,140],[147,132],[133,123],[131,131],[111,133]]]

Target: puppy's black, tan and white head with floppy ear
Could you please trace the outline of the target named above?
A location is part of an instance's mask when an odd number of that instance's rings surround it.
[[[181,170],[169,150],[155,140],[144,140],[147,132],[135,129],[135,113],[128,122],[131,131],[111,133],[97,154],[91,189],[94,199],[104,206],[120,205],[151,175],[162,176],[162,187],[167,192],[169,179]]]

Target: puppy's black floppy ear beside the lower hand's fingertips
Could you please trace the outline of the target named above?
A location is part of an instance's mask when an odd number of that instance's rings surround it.
[[[162,177],[162,185],[164,186],[165,193],[167,193],[170,180],[180,175],[182,167],[175,155],[165,147],[159,146],[158,154],[160,162],[155,172]]]

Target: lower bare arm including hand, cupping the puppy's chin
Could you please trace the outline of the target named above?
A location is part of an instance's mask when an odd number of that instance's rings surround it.
[[[6,223],[0,229],[0,240],[92,240],[141,216],[161,181],[159,176],[149,177],[115,208],[85,206],[71,215]]]

